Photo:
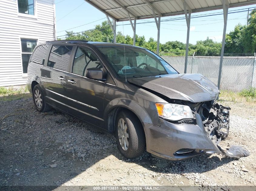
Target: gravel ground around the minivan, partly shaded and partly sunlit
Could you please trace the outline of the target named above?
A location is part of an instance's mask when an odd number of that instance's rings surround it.
[[[0,118],[26,109],[0,122],[0,185],[256,185],[256,107],[228,104],[235,110],[222,145],[241,145],[250,156],[167,161],[146,151],[125,160],[114,135],[57,110],[39,113],[32,98],[0,102]]]

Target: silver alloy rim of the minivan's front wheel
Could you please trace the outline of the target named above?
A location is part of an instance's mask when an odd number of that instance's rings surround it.
[[[128,128],[123,118],[118,121],[118,139],[123,150],[127,151],[129,146]]]

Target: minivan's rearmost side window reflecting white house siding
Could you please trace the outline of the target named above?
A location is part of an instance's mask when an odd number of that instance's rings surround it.
[[[50,44],[43,44],[43,45],[38,46],[34,50],[34,53],[31,56],[30,62],[44,65],[45,57],[46,57],[49,46],[50,46]]]

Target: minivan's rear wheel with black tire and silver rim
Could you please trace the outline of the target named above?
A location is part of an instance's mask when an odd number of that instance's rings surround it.
[[[38,98],[39,98],[39,101],[38,101]],[[39,84],[35,85],[33,89],[33,102],[34,102],[35,108],[39,112],[47,112],[51,110],[50,105],[45,102],[45,96]]]

